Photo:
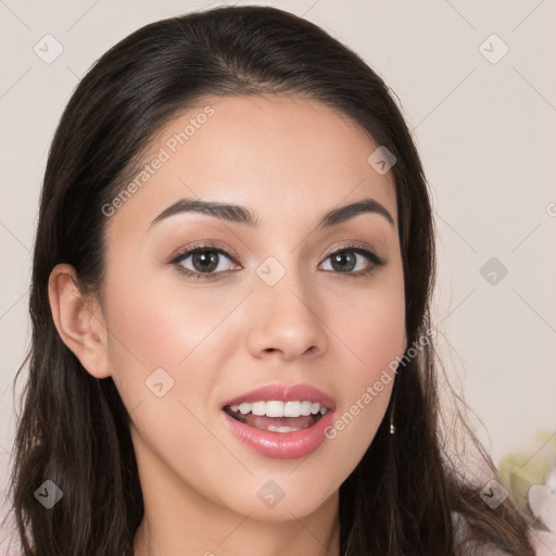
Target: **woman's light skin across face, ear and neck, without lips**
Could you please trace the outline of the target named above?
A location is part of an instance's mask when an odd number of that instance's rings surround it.
[[[252,452],[225,427],[220,407],[260,386],[308,382],[336,400],[340,416],[403,354],[393,178],[367,163],[378,144],[316,101],[263,96],[206,104],[215,111],[206,124],[106,218],[102,295],[83,298],[75,270],[54,268],[54,321],[88,372],[113,378],[131,413],[146,503],[136,555],[338,555],[339,488],[371,443],[392,383],[304,459]],[[146,162],[202,106],[169,122]],[[363,213],[312,231],[324,213],[368,197],[394,225]],[[244,205],[261,229],[193,213],[150,226],[182,198]],[[197,280],[169,263],[195,240],[230,254],[219,258],[218,279]],[[334,271],[328,255],[353,241],[386,265],[355,277],[371,263],[351,252],[352,275]],[[271,287],[255,273],[268,256],[286,269]],[[191,256],[181,265],[199,273]],[[160,367],[174,380],[162,397],[146,388]],[[285,493],[271,508],[257,496],[269,480]]]

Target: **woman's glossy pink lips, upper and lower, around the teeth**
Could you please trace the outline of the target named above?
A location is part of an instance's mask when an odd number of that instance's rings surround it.
[[[271,432],[255,429],[233,419],[224,410],[222,412],[222,418],[238,440],[264,457],[298,459],[312,454],[326,440],[325,429],[332,422],[336,409],[333,400],[309,384],[269,384],[229,400],[223,407],[239,405],[242,402],[267,402],[271,400],[282,402],[311,400],[328,408],[328,413],[323,415],[312,427],[295,432]]]

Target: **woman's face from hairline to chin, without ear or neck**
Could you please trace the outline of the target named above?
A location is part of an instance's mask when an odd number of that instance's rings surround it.
[[[393,177],[367,161],[378,147],[315,101],[214,99],[166,125],[103,207],[106,354],[147,504],[302,517],[363,457],[406,346]],[[242,208],[176,205],[193,201]]]

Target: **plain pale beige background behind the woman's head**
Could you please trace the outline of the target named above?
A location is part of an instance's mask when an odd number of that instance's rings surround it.
[[[434,190],[437,326],[451,345],[442,346],[444,364],[483,420],[480,438],[495,463],[538,450],[536,430],[556,432],[556,3],[264,3],[324,26],[397,93]],[[38,195],[56,122],[79,76],[117,40],[216,4],[0,2],[2,484],[14,432],[12,380],[29,338]],[[51,64],[34,52],[47,34],[63,47]],[[509,50],[497,63],[483,55],[494,60],[504,45]],[[488,281],[493,268],[483,270],[488,279],[480,274],[491,257],[508,270],[501,279],[494,269],[495,285]]]

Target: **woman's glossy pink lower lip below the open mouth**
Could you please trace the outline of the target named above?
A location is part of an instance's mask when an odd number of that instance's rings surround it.
[[[255,429],[222,412],[230,432],[251,450],[274,459],[298,459],[306,457],[326,440],[325,429],[332,422],[333,412],[328,412],[306,429],[294,432],[271,432]]]

